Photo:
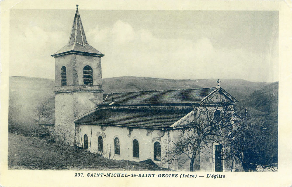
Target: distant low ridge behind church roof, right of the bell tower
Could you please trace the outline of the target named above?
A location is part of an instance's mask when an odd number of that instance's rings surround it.
[[[105,93],[133,92],[140,90],[172,90],[208,88],[217,86],[217,79],[157,79],[150,77],[123,76],[102,79]],[[255,90],[270,83],[250,82],[243,79],[221,79],[220,86],[238,100],[244,99]]]

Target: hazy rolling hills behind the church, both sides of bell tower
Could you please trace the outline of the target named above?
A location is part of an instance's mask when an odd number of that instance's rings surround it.
[[[216,79],[175,80],[135,76],[102,79],[105,93],[206,88],[217,86],[216,81]],[[9,110],[13,111],[12,108],[18,110],[15,110],[14,114],[10,112],[9,117],[18,115],[21,123],[33,123],[32,117],[36,106],[54,97],[54,83],[53,79],[11,76],[9,79]],[[220,86],[237,98],[240,106],[256,108],[260,112],[273,112],[277,108],[275,104],[278,97],[278,83],[221,79]],[[14,116],[14,118],[17,117]]]

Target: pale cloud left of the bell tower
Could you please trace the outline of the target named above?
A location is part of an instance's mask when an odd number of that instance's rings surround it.
[[[54,77],[51,54],[58,50],[56,46],[61,48],[67,42],[62,33],[44,31],[38,26],[18,31],[10,41],[10,76]]]

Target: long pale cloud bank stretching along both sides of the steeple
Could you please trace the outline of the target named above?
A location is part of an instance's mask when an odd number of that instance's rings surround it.
[[[67,33],[45,31],[38,26],[13,29],[10,76],[54,77],[50,56],[69,39]],[[208,37],[158,37],[151,30],[136,29],[118,20],[112,26],[96,25],[86,32],[89,44],[105,54],[102,76],[148,76],[168,79],[246,79],[275,81],[277,56],[256,54],[233,46],[218,48]],[[277,42],[275,42],[276,44]],[[264,50],[262,50],[264,51]],[[272,51],[274,53],[274,51]],[[274,63],[275,61],[275,63]]]

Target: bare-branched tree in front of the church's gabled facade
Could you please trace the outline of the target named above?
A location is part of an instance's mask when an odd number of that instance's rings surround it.
[[[179,136],[171,140],[172,147],[168,151],[170,161],[187,156],[190,171],[194,171],[196,156],[210,152],[210,142],[224,142],[229,133],[226,129],[232,129],[234,113],[232,105],[218,95],[209,97],[200,106],[194,107],[194,111],[192,120],[185,120],[178,127]]]

